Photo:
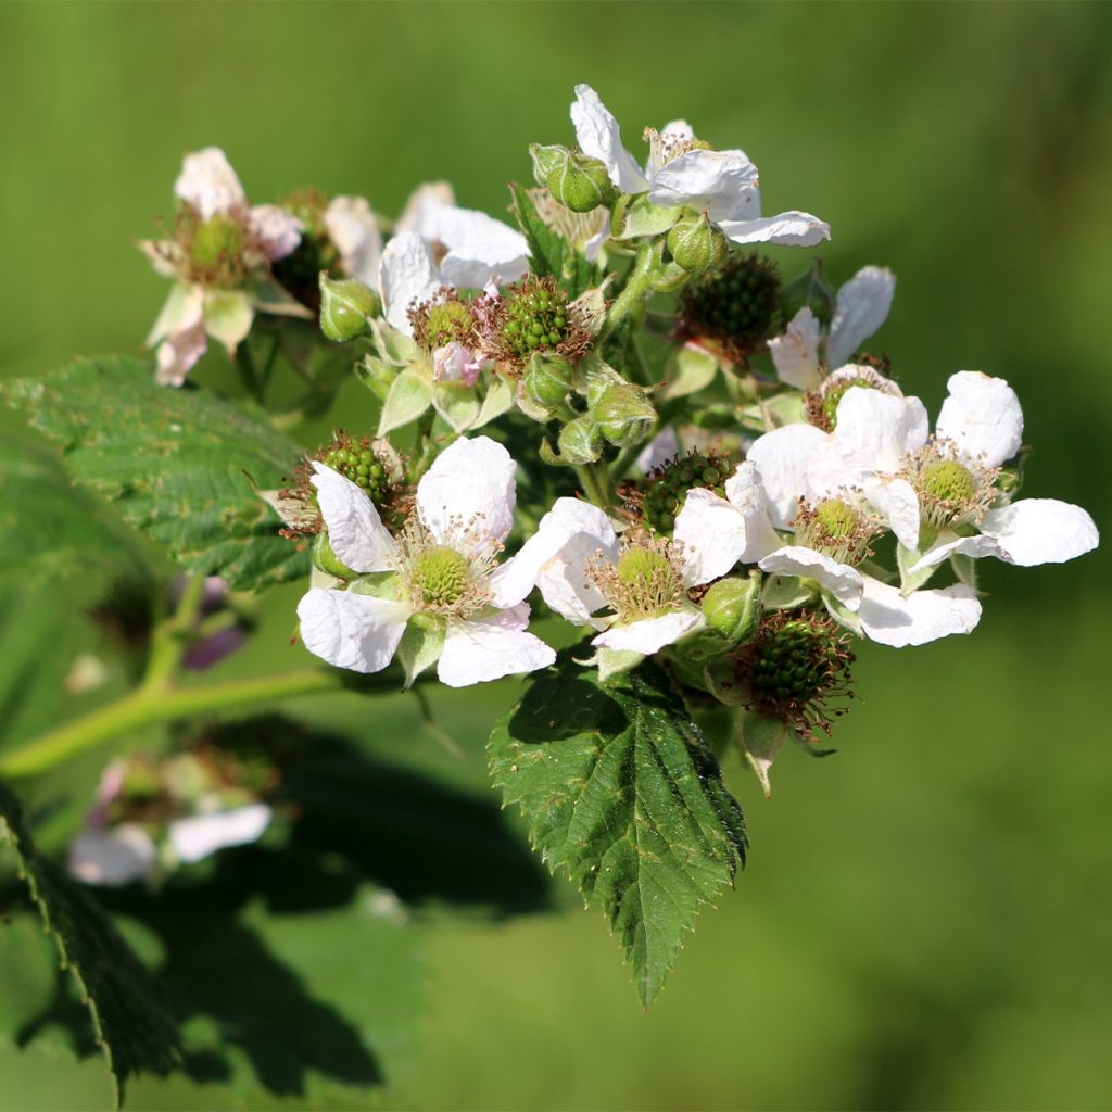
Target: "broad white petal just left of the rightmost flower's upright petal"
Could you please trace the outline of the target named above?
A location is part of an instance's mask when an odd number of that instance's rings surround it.
[[[900,470],[904,457],[926,444],[926,408],[919,398],[894,398],[855,386],[837,407],[834,445],[862,475]]]

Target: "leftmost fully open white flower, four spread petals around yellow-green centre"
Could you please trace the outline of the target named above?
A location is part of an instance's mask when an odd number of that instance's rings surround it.
[[[417,485],[416,509],[398,537],[367,495],[324,464],[314,486],[328,540],[356,573],[396,573],[388,597],[308,592],[298,605],[306,647],[329,664],[380,672],[410,618],[443,634],[437,674],[449,687],[533,672],[556,654],[526,632],[532,583],[504,583],[497,554],[514,524],[516,465],[487,437],[457,440]]]

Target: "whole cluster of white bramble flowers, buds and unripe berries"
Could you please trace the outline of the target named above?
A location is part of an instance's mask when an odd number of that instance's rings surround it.
[[[255,310],[319,312],[330,339],[360,341],[377,436],[337,434],[267,495],[287,535],[312,537],[311,653],[363,673],[396,661],[407,686],[434,667],[449,686],[533,672],[555,661],[527,628],[535,593],[542,632],[587,631],[575,656],[603,682],[656,656],[692,706],[735,708],[767,790],[781,742],[813,747],[846,709],[853,638],[967,634],[977,558],[1072,559],[1096,528],[1017,497],[1006,381],[952,375],[932,431],[862,350],[891,271],[834,290],[817,261],[786,280],[754,248],[830,228],[763,216],[743,151],[673,121],[645,130],[642,160],[583,85],[570,116],[574,147],[530,148],[519,230],[445,183],[390,225],[353,197],[249,208],[219,151],[189,156],[175,235],[147,247],[177,279],[159,376],[180,383],[206,332],[234,348]],[[291,277],[310,264],[316,301]]]

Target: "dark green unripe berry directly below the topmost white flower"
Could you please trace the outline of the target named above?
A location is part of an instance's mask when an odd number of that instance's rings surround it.
[[[762,255],[732,255],[684,292],[683,326],[743,358],[775,335],[781,320],[780,271]]]

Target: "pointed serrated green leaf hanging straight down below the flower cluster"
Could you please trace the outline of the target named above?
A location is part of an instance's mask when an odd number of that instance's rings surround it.
[[[600,907],[647,1005],[701,904],[733,881],[745,821],[652,662],[603,687],[564,656],[490,735],[490,772],[548,866]]]

